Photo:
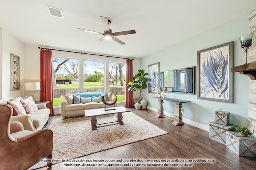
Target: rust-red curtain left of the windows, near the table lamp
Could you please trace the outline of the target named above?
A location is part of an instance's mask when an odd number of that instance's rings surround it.
[[[53,115],[52,51],[40,51],[40,101],[50,101],[47,108]]]

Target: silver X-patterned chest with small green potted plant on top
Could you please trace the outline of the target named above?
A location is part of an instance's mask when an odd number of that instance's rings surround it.
[[[226,147],[239,156],[256,157],[256,139],[242,137],[238,132],[226,132]]]

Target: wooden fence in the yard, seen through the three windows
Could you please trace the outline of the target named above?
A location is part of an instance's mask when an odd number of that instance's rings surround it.
[[[125,87],[110,87],[109,91],[116,95],[124,95],[125,94]],[[53,97],[54,98],[64,98],[66,93],[78,93],[78,88],[58,88],[53,90]],[[85,88],[84,92],[105,92],[104,88]]]

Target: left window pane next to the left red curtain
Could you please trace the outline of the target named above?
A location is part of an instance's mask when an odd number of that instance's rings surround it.
[[[59,106],[66,93],[77,93],[79,83],[79,61],[53,58],[54,106]]]

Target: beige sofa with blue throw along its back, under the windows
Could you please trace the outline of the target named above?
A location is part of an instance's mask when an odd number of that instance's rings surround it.
[[[103,108],[103,107],[114,107],[105,105],[101,100],[101,95],[104,94],[102,92],[98,93],[79,93],[79,94],[66,94],[65,100],[61,102],[60,105],[60,112],[63,116],[63,119],[66,119],[68,117],[74,117],[74,116],[84,116],[84,111],[86,109],[97,109],[97,108]],[[86,96],[87,99],[91,98],[91,102],[80,102],[74,104],[73,96]],[[95,96],[96,95],[96,96]],[[112,93],[107,93],[108,99],[107,103],[112,103],[116,100],[116,98],[112,97]],[[97,99],[98,98],[98,99]],[[116,103],[115,103],[116,106]]]

